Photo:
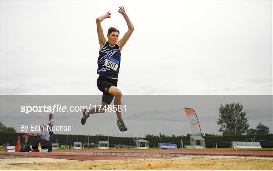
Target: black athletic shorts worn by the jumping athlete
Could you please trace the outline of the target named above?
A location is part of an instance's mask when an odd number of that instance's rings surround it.
[[[99,76],[97,79],[97,86],[100,91],[103,92],[102,102],[111,104],[114,96],[108,93],[108,90],[111,86],[117,87],[117,79],[107,78],[105,76]]]

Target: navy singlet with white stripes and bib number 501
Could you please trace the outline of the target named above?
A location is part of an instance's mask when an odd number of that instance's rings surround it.
[[[121,52],[119,45],[111,46],[106,42],[99,51],[97,74],[118,78]]]

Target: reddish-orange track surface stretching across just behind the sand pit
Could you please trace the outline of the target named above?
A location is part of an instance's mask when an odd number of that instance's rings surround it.
[[[98,155],[99,153],[99,155]],[[132,156],[123,154],[147,154],[146,156]],[[151,154],[151,155],[149,155]],[[0,152],[0,155],[45,157],[68,160],[133,160],[133,159],[158,159],[158,158],[177,158],[177,156],[153,156],[152,154],[177,154],[179,156],[187,155],[208,155],[208,156],[255,156],[255,157],[273,157],[273,150],[141,150],[141,149],[82,149],[82,150],[54,150],[52,153],[29,153],[29,152]]]

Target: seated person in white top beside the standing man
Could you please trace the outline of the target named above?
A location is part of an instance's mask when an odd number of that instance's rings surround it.
[[[41,146],[45,146],[45,144],[49,143],[49,131],[47,129],[47,127],[45,127],[44,124],[40,124],[40,129],[41,132],[40,133],[29,133],[29,135],[31,136],[40,136],[40,139],[37,139],[34,141],[34,145],[32,146],[33,150],[37,150],[39,143],[41,143]],[[47,145],[46,145],[47,146]]]

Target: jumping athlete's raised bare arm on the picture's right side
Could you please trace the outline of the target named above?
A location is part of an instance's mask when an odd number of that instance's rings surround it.
[[[128,15],[126,14],[124,7],[119,7],[118,12],[123,15],[123,17],[124,17],[124,19],[125,19],[125,21],[126,21],[126,23],[128,25],[128,31],[117,42],[117,44],[119,45],[120,49],[122,49],[122,47],[126,44],[126,42],[128,41],[128,39],[130,38],[130,36],[131,36],[131,34],[132,34],[133,30],[134,30],[134,27],[133,27],[132,22],[129,19]]]

